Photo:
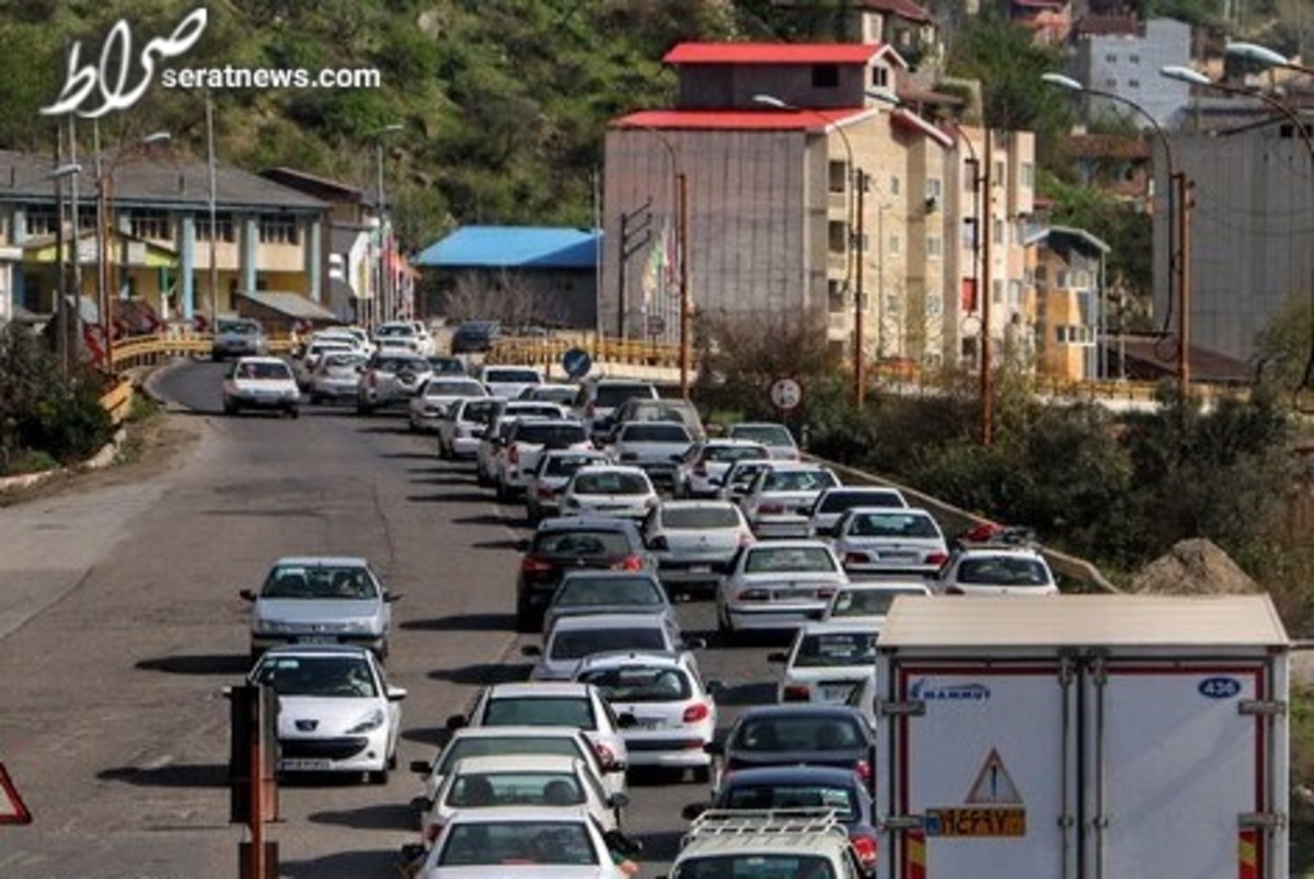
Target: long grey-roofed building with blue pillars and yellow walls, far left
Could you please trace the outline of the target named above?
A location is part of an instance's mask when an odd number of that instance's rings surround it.
[[[164,319],[209,318],[237,313],[239,293],[264,290],[321,305],[327,205],[238,168],[214,171],[213,229],[209,166],[171,158],[108,163],[99,180],[84,169],[75,218],[74,181],[51,179],[49,156],[0,151],[0,247],[21,251],[11,268],[8,307],[55,311],[60,235],[67,237],[66,263],[76,250],[80,294],[93,306],[99,272],[105,272],[112,317],[118,304],[134,302]],[[63,188],[58,197],[57,184]]]

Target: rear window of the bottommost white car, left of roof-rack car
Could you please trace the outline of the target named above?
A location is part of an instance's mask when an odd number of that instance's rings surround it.
[[[582,821],[469,821],[443,837],[439,866],[598,863]]]

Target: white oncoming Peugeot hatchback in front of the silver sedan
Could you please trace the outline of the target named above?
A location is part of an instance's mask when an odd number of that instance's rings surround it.
[[[292,645],[264,653],[248,682],[279,698],[280,773],[360,773],[376,783],[397,765],[401,702],[372,650]]]

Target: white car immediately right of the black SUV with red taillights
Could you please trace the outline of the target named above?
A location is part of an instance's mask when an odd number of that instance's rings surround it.
[[[744,512],[729,501],[662,501],[644,519],[643,532],[671,593],[715,590],[735,553],[754,540]]]

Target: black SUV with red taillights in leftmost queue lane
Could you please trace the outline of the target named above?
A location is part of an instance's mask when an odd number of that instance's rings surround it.
[[[519,632],[537,632],[543,627],[543,612],[568,570],[656,570],[639,526],[628,519],[544,519],[526,544],[515,583],[515,628]]]

